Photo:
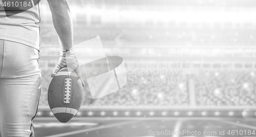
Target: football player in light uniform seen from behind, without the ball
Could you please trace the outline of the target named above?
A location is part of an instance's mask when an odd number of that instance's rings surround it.
[[[0,0],[0,132],[6,136],[34,136],[41,70],[40,0]],[[73,49],[73,25],[67,0],[48,0],[61,47],[52,77],[67,65],[81,78]],[[1,136],[0,135],[0,136]]]

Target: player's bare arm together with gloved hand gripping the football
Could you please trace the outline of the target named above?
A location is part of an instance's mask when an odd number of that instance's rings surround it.
[[[60,58],[59,62],[51,74],[54,77],[57,72],[63,67],[71,67],[77,73],[78,78],[81,79],[82,86],[84,86],[80,68],[73,49],[73,23],[70,14],[70,8],[67,0],[48,0],[54,28],[59,37]]]

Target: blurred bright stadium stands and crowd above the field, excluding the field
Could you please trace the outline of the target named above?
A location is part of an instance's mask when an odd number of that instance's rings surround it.
[[[123,89],[96,100],[88,92],[83,105],[256,104],[256,1],[72,0],[69,4],[75,45],[100,37],[106,55],[122,57],[127,71]],[[40,13],[40,105],[48,105],[59,45],[47,2],[40,3]]]

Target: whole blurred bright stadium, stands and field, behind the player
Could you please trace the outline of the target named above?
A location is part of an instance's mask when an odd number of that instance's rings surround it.
[[[42,85],[36,136],[255,136],[256,1],[69,4],[75,45],[94,45],[90,40],[99,38],[106,56],[123,58],[127,83],[97,99],[86,85],[79,112],[59,123],[47,99],[59,58],[58,36],[47,2],[40,2]],[[79,50],[84,60],[98,51]],[[87,67],[96,73],[104,65]],[[85,70],[81,66],[83,78]]]

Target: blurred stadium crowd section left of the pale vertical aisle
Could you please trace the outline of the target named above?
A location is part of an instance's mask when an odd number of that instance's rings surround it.
[[[51,72],[51,69],[42,70],[40,105],[48,105],[47,92],[52,79],[50,77]],[[176,79],[170,81],[170,78],[177,78],[178,76],[181,77],[180,74],[164,76],[161,74],[135,75],[127,72],[129,79],[121,90],[98,99],[92,99],[90,89],[86,84],[82,105],[188,105],[186,81],[181,82]],[[83,77],[85,77],[84,74]],[[97,85],[97,81],[94,84]]]

